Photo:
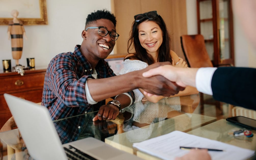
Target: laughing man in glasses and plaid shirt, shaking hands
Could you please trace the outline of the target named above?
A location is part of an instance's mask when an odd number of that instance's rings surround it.
[[[116,76],[104,60],[113,50],[119,34],[116,18],[107,10],[88,15],[83,41],[74,52],[55,56],[47,68],[43,88],[42,105],[49,109],[52,120],[76,116],[99,110],[96,120],[115,119],[119,110],[134,102],[133,89],[143,88],[154,94],[174,95],[183,87],[162,76],[144,78],[149,68]],[[166,63],[169,64],[169,63]],[[151,66],[150,68],[159,65]],[[171,86],[171,87],[168,87]],[[150,89],[150,90],[149,90]],[[105,105],[105,99],[114,100]],[[62,142],[76,140],[82,124],[63,125]],[[72,135],[70,132],[72,130]],[[68,138],[70,136],[71,138]]]

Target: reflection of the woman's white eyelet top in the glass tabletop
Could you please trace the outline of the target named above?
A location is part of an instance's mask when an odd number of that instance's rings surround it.
[[[123,125],[123,130],[127,133],[127,139],[134,142],[141,142],[151,137],[154,128],[153,124],[162,126],[167,114],[171,111],[177,110],[181,112],[180,97],[172,97],[172,101],[168,99],[162,99],[158,103],[152,103],[149,101],[137,102],[129,107],[125,107],[121,110],[122,113],[130,112],[131,118]],[[148,124],[146,127],[137,127],[133,125],[133,121],[140,124]],[[161,123],[162,122],[162,123]],[[128,132],[129,131],[129,132]]]

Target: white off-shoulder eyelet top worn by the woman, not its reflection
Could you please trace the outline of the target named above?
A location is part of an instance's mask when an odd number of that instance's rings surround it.
[[[140,60],[130,60],[130,59],[125,59],[123,62],[123,69],[119,72],[120,75],[123,75],[128,72],[136,71],[136,70],[141,70],[144,69],[148,66],[147,63],[140,61]],[[143,99],[144,95],[140,92],[140,90],[135,89],[133,90],[135,94],[135,102],[139,102]]]

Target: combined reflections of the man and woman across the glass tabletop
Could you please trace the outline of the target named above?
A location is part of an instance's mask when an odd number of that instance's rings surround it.
[[[186,113],[184,111],[192,113],[194,110],[191,109],[192,106],[197,106],[198,103],[198,95],[168,97],[157,103],[149,101],[134,103],[122,109],[116,120],[93,122],[92,119],[98,112],[90,112],[53,122],[62,144],[87,137],[94,137],[104,141],[105,138],[118,132],[123,133],[142,127],[141,131],[144,130],[145,135],[150,134],[146,133],[145,126]],[[144,133],[140,135],[145,137]]]

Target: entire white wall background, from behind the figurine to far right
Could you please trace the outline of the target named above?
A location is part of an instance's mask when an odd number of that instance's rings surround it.
[[[73,52],[81,44],[81,33],[88,14],[98,9],[111,10],[111,0],[46,0],[48,25],[24,26],[28,40],[24,40],[20,64],[26,58],[35,57],[36,66],[47,66],[61,52]],[[197,34],[196,0],[186,0],[188,34]],[[256,51],[248,44],[234,15],[235,64],[256,67]],[[0,60],[12,59],[11,44],[7,38],[7,27],[0,26]],[[12,66],[15,61],[12,59]],[[0,67],[0,69],[2,69]]]

